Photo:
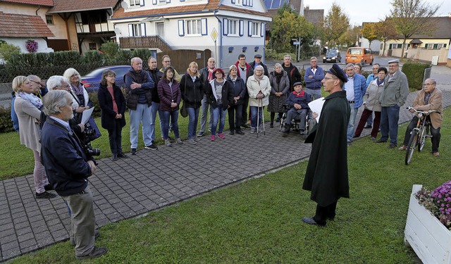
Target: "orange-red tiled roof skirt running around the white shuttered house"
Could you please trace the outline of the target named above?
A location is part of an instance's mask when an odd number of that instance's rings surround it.
[[[211,0],[208,4],[190,5],[190,6],[174,6],[170,8],[155,8],[150,10],[141,10],[133,12],[125,12],[124,8],[118,8],[113,14],[113,19],[121,18],[140,18],[152,15],[171,15],[175,13],[195,13],[200,11],[228,10],[242,13],[250,13],[254,15],[270,16],[268,13],[257,12],[245,8],[236,8],[233,6],[219,6],[219,0]]]

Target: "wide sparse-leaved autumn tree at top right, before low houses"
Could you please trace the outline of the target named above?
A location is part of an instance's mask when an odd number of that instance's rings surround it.
[[[396,32],[403,37],[401,56],[404,54],[406,39],[413,34],[431,34],[436,30],[434,18],[438,5],[423,0],[393,0],[391,17]]]

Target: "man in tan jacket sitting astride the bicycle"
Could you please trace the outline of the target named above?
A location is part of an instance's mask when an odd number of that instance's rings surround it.
[[[438,153],[438,145],[440,144],[440,126],[443,122],[442,115],[442,91],[439,89],[435,89],[437,86],[437,82],[433,79],[427,79],[424,81],[424,88],[416,94],[416,98],[412,103],[412,107],[416,111],[437,111],[428,115],[431,120],[431,142],[432,142],[432,154],[435,157],[438,157],[440,154]],[[410,112],[414,113],[414,109],[411,109]],[[418,122],[418,116],[414,115],[412,121],[410,121],[409,126],[407,127],[406,134],[404,136],[404,143],[399,148],[400,151],[404,151],[407,149],[407,144],[409,144],[410,132],[416,127],[416,123]]]

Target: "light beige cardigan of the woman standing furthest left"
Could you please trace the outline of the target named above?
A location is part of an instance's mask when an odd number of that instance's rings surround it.
[[[19,120],[20,144],[40,153],[41,130],[39,128],[39,120],[41,119],[41,111],[19,96],[14,101],[14,110]]]

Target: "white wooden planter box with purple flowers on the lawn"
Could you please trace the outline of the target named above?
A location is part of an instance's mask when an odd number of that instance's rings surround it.
[[[434,191],[414,185],[404,242],[423,263],[451,263],[451,181]]]

